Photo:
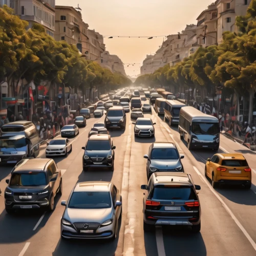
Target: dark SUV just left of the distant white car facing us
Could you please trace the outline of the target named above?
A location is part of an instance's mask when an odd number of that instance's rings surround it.
[[[105,115],[106,129],[111,127],[125,129],[126,114],[121,106],[113,106]]]

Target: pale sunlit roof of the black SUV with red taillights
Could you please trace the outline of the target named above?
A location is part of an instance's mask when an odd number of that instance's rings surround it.
[[[153,173],[154,184],[192,185],[188,174],[174,172]]]

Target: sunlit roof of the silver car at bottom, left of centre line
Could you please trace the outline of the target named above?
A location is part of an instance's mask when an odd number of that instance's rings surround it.
[[[77,183],[74,192],[83,192],[83,191],[110,191],[111,188],[111,182],[106,181],[86,181],[86,182],[80,182]]]

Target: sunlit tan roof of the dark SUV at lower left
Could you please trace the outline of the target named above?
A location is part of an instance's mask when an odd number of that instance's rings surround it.
[[[48,162],[52,161],[52,159],[47,158],[33,158],[33,159],[25,159],[22,164],[18,165],[13,172],[42,172],[45,170],[45,166]]]

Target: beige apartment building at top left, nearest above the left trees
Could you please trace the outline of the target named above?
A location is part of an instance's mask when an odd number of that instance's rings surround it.
[[[8,0],[2,0],[8,1]],[[29,28],[34,23],[44,26],[46,33],[54,36],[55,31],[55,0],[10,0],[10,7],[21,19],[27,20]]]

